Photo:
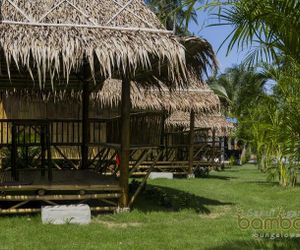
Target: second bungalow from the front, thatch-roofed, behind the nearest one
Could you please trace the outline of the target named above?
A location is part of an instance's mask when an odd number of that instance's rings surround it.
[[[189,75],[189,82],[192,85],[189,89],[171,92],[163,88],[160,91],[155,89],[141,91],[141,89],[136,88],[136,84],[132,84],[133,92],[131,96],[137,112],[135,116],[132,116],[132,130],[134,131],[132,141],[135,142],[136,146],[139,145],[140,149],[143,149],[143,146],[155,145],[159,148],[158,152],[161,153],[159,159],[155,160],[155,165],[153,165],[153,152],[144,150],[141,152],[139,150],[136,154],[132,154],[130,174],[133,176],[149,174],[148,170],[152,165],[153,171],[171,171],[182,176],[187,176],[190,172],[193,174],[193,166],[190,166],[190,164],[195,164],[194,155],[179,157],[178,154],[178,151],[188,152],[191,145],[170,144],[167,140],[165,121],[170,113],[176,111],[196,112],[197,114],[215,113],[220,109],[220,101],[208,86],[202,84],[195,76]],[[111,95],[108,98],[103,98],[101,93],[98,93],[99,96],[95,96],[95,98],[99,100],[98,103],[104,104],[104,106],[110,104],[117,106],[120,97],[116,93],[120,93],[120,83],[114,81],[107,85],[105,83],[104,88],[106,86],[110,86]],[[145,113],[145,110],[148,110],[148,112]],[[152,116],[149,116],[149,110],[152,110],[150,111]],[[140,117],[146,115],[147,121],[141,122],[140,119],[137,119],[137,115]],[[117,134],[116,131],[117,129],[114,130],[114,133],[108,134],[115,135]],[[114,140],[116,141],[116,139]],[[152,159],[151,157],[149,159],[149,155],[152,156]],[[191,163],[189,157],[191,157]]]

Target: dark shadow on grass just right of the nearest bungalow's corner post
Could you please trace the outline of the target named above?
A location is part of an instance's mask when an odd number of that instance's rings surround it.
[[[169,187],[147,185],[136,200],[134,209],[143,212],[177,212],[183,209],[192,209],[197,213],[210,214],[207,206],[225,205],[234,204],[197,196]]]

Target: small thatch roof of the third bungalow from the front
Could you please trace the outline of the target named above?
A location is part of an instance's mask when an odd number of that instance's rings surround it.
[[[173,112],[166,120],[166,125],[173,128],[180,127],[188,129],[190,127],[190,114],[182,111]],[[228,122],[220,113],[215,113],[196,115],[195,128],[215,129],[218,136],[225,136],[233,131],[235,126],[233,123]]]

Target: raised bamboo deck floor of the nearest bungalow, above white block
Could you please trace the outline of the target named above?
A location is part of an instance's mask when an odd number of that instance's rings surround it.
[[[121,195],[115,177],[90,170],[55,170],[53,181],[37,170],[20,170],[20,180],[9,171],[0,174],[0,214],[35,213],[42,205],[88,203],[93,211],[114,211]]]

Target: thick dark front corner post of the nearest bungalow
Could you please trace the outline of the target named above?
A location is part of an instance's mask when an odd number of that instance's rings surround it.
[[[130,153],[130,81],[122,80],[122,105],[121,105],[121,164],[120,164],[120,186],[122,195],[120,207],[128,208],[128,182],[129,182],[129,153]]]

